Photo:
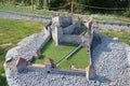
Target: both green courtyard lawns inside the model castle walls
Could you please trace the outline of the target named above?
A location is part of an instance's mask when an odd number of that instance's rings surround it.
[[[54,41],[50,40],[49,43],[42,49],[42,56],[39,59],[36,59],[35,63],[44,63],[47,58],[51,58],[54,62],[57,62],[61,58],[68,55],[73,52],[77,45],[68,44],[62,46],[55,46]],[[89,64],[89,57],[87,49],[83,47],[75,55],[73,55],[68,60],[65,60],[60,64],[61,68],[68,69],[72,64],[76,64],[79,68],[86,68]]]

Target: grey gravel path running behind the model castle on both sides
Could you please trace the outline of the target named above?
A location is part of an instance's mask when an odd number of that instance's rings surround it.
[[[13,18],[13,19],[27,19],[27,20],[39,20],[39,22],[50,22],[51,17],[43,15],[29,14],[29,13],[18,13],[13,11],[0,10],[1,18]],[[108,22],[98,22],[101,29],[130,29],[129,23],[108,23]]]

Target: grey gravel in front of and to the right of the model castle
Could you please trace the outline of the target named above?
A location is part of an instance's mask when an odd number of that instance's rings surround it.
[[[9,86],[130,86],[130,46],[106,35],[92,53],[96,77],[47,74],[44,69],[26,67],[17,71],[5,67]],[[127,48],[127,49],[126,49]]]

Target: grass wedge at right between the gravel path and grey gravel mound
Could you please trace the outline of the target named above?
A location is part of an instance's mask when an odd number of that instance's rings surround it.
[[[130,45],[130,30],[112,30],[112,29],[102,30],[100,29],[100,32],[110,38],[116,37],[119,39],[119,41],[125,42],[128,45]]]

